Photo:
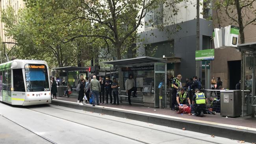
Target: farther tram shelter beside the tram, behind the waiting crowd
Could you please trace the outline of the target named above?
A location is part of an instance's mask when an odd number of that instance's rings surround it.
[[[77,66],[65,66],[52,68],[52,70],[58,71],[59,85],[57,86],[58,93],[57,96],[63,96],[64,91],[67,89],[67,85],[69,84],[72,87],[72,94],[70,96],[78,97],[78,92],[76,92],[76,87],[78,85],[78,81],[80,79],[80,75],[83,74],[83,77],[89,76],[89,68],[86,67],[77,67]],[[65,82],[63,85],[62,82]]]

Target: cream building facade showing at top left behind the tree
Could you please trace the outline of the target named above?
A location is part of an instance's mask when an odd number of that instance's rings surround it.
[[[11,6],[15,10],[15,13],[17,14],[18,10],[22,7],[24,7],[24,2],[23,0],[0,0],[1,4],[1,9],[6,9],[7,7]],[[0,17],[1,17],[0,13]],[[4,31],[4,23],[1,22],[0,24],[0,36],[3,42],[15,42],[11,37],[6,37],[5,36],[5,31]],[[11,48],[13,44],[6,44],[7,48]]]

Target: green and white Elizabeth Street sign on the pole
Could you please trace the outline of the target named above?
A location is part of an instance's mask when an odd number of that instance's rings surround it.
[[[196,61],[214,60],[214,49],[197,50]]]

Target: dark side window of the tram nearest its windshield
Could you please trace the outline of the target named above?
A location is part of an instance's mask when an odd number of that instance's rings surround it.
[[[13,69],[13,91],[25,92],[22,69]]]

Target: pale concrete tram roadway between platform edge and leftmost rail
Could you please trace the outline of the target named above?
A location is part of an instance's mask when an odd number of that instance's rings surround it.
[[[2,117],[54,144],[176,144],[181,139],[191,144],[237,144],[237,140],[56,105],[13,107],[0,103],[0,107]]]

